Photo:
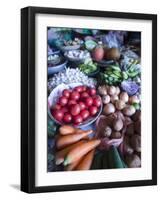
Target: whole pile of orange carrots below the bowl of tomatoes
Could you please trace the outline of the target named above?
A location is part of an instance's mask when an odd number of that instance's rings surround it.
[[[99,139],[89,139],[92,132],[61,126],[56,141],[56,164],[63,164],[66,171],[90,169],[95,148],[100,144]]]

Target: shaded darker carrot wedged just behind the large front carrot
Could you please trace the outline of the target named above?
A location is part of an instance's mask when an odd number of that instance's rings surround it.
[[[66,148],[56,152],[56,155],[55,155],[55,160],[56,160],[56,165],[60,165],[61,163],[64,162],[64,158],[65,156],[67,155],[67,153],[74,147],[76,147],[77,145],[80,145],[82,143],[85,143],[86,140],[80,140],[79,142],[76,142],[70,146],[67,146]]]

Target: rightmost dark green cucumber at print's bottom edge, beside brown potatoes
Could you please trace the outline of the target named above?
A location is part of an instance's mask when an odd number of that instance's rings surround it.
[[[108,162],[110,169],[125,168],[120,154],[116,147],[112,146],[108,153]]]

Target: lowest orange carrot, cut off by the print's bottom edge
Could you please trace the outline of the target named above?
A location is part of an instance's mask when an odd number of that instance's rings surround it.
[[[76,166],[76,170],[89,170],[92,164],[95,149],[87,153]],[[71,164],[72,165],[72,164]]]

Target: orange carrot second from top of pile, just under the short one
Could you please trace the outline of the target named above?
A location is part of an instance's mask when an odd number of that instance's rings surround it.
[[[58,149],[64,148],[70,144],[73,144],[74,142],[78,142],[79,140],[88,136],[92,132],[93,132],[92,130],[88,130],[82,133],[61,136],[60,138],[58,138],[56,146]]]

